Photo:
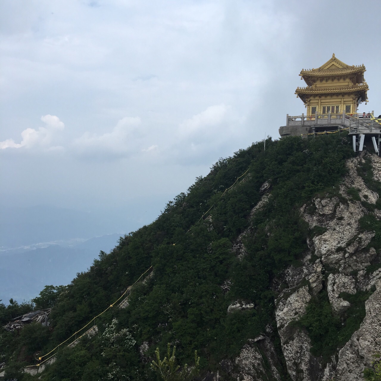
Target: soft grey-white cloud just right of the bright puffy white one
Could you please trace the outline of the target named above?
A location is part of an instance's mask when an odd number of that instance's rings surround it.
[[[73,148],[80,156],[126,156],[136,146],[140,125],[139,117],[125,117],[118,121],[111,132],[91,134],[86,131],[80,138],[74,139]]]

